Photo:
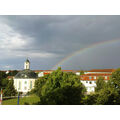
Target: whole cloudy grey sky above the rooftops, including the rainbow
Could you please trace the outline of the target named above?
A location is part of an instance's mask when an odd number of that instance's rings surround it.
[[[1,15],[0,69],[24,69],[27,58],[34,70],[119,68],[120,16]]]

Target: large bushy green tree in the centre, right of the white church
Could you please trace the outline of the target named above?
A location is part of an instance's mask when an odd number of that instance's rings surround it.
[[[62,72],[61,68],[58,68],[45,76],[43,81],[43,85],[35,85],[41,100],[38,104],[83,104],[85,87],[74,73]]]

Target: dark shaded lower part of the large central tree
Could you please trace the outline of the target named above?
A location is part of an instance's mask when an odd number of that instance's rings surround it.
[[[79,105],[82,103],[82,87],[65,86],[57,88],[41,97],[42,105]]]

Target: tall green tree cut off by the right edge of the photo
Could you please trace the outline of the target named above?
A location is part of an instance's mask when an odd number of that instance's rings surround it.
[[[120,104],[120,69],[112,73],[111,79],[98,92],[96,104],[119,105]]]

